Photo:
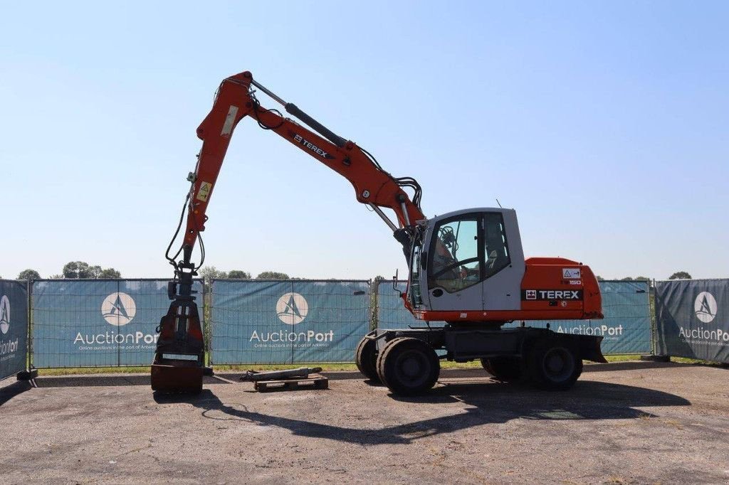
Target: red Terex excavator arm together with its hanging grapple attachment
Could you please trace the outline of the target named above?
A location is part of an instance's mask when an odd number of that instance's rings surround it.
[[[276,100],[287,113],[316,133],[277,110],[263,108],[255,96],[255,88]],[[175,278],[168,286],[168,294],[173,301],[160,320],[160,336],[152,364],[153,390],[199,392],[202,389],[205,363],[203,332],[192,279],[202,266],[204,256],[196,265],[192,262],[192,249],[200,239],[200,232],[205,230],[208,203],[230,138],[238,122],[245,117],[252,118],[260,127],[275,132],[346,178],[354,187],[356,200],[369,205],[388,224],[394,237],[402,244],[406,259],[410,257],[416,222],[425,218],[420,208],[421,189],[413,178],[394,178],[367,151],[336,135],[294,104],[286,103],[254,81],[250,72],[225,79],[220,84],[210,113],[198,127],[198,138],[203,141],[203,147],[198,154],[195,172],[188,177],[192,186],[186,200],[187,224],[182,246],[171,256],[173,238],[167,251],[167,258],[175,268]],[[413,189],[412,199],[405,192],[405,187]],[[382,208],[394,211],[397,224],[383,213]],[[180,224],[182,226],[182,218]],[[181,254],[182,260],[176,261]]]

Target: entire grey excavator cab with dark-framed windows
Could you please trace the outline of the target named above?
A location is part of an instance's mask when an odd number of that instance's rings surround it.
[[[459,320],[464,310],[520,309],[524,256],[515,210],[458,210],[418,229],[408,299],[416,311],[442,313],[425,320]]]

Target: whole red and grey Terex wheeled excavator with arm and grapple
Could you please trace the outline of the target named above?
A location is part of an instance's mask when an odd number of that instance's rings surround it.
[[[258,90],[311,130],[276,109],[262,107]],[[393,393],[410,395],[435,384],[440,359],[480,359],[504,382],[525,378],[538,387],[566,389],[580,376],[583,359],[605,361],[601,336],[525,326],[525,320],[602,318],[599,286],[588,266],[562,258],[524,259],[512,209],[472,208],[426,218],[415,179],[391,176],[361,146],[286,103],[246,71],[223,80],[213,108],[198,127],[203,147],[195,172],[188,176],[190,192],[166,253],[175,268],[168,285],[173,301],[160,321],[153,390],[202,389],[205,351],[192,281],[204,259],[200,232],[208,219],[208,203],[233,130],[246,117],[346,178],[356,200],[372,208],[402,245],[409,275],[400,296],[425,326],[378,329],[364,336],[355,355],[364,376]],[[392,210],[396,220],[383,209]],[[171,255],[185,210],[184,240]],[[198,240],[202,256],[195,264],[192,249]],[[521,326],[502,328],[512,322]]]

